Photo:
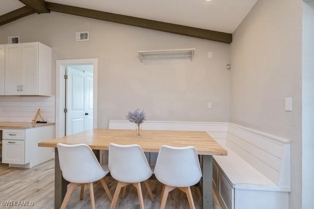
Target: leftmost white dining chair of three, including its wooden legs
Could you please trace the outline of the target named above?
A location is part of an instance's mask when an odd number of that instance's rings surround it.
[[[80,200],[83,199],[84,185],[89,189],[91,209],[95,209],[93,182],[100,181],[110,201],[112,196],[104,177],[109,171],[102,167],[91,148],[86,144],[67,145],[58,143],[58,156],[63,178],[70,182],[61,205],[65,209],[74,188],[80,186]]]

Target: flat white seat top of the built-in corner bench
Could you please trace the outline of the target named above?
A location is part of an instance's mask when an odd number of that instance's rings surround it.
[[[213,159],[233,188],[290,191],[290,187],[278,186],[270,181],[227,146],[222,147],[227,150],[228,156],[213,156]]]

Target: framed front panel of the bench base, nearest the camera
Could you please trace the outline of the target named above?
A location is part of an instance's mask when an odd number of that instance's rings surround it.
[[[223,209],[234,209],[235,190],[228,183],[223,174],[218,171],[219,197],[222,199]]]

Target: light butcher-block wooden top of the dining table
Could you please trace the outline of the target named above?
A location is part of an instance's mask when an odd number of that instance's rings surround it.
[[[193,146],[199,155],[226,156],[227,151],[205,131],[151,131],[142,130],[136,137],[135,130],[93,129],[38,143],[39,147],[56,148],[57,143],[87,144],[94,150],[108,150],[109,143],[138,144],[144,152],[159,152],[162,145]]]

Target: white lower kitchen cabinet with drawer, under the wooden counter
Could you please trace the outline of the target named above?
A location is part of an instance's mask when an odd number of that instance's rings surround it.
[[[53,148],[38,143],[54,138],[54,126],[2,130],[2,163],[31,168],[53,158]]]

